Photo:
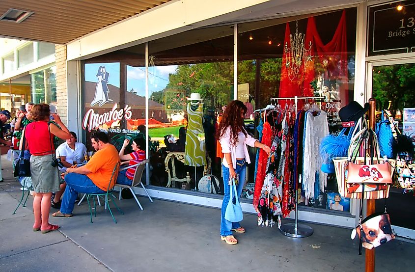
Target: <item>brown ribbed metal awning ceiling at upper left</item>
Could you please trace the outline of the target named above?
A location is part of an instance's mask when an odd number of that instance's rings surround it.
[[[0,16],[10,8],[33,14],[21,23],[0,20],[0,36],[65,44],[168,1],[1,0]]]

